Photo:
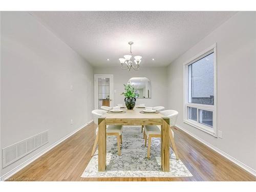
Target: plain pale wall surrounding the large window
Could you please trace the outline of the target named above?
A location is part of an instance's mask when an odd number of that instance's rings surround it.
[[[168,106],[178,126],[256,170],[255,12],[239,12],[168,67]],[[183,63],[217,42],[218,130],[215,138],[183,123]]]

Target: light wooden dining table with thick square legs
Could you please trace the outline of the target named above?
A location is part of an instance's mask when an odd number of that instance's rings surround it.
[[[161,168],[163,172],[169,172],[169,118],[160,113],[140,113],[143,110],[135,107],[133,110],[124,110],[126,113],[106,113],[98,119],[99,172],[105,171],[106,168],[106,125],[161,125]]]

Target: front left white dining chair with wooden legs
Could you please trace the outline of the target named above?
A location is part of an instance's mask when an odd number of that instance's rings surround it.
[[[92,114],[93,114],[93,121],[94,123],[97,125],[95,134],[96,134],[96,139],[94,141],[94,145],[93,145],[93,151],[91,154],[91,157],[94,155],[95,151],[96,151],[96,146],[98,144],[98,119],[104,115],[106,113],[106,111],[104,110],[93,110]],[[123,131],[123,126],[122,125],[106,125],[106,135],[110,136],[110,135],[114,135],[117,138],[117,150],[118,150],[118,155],[121,155],[121,149],[120,149],[120,143],[122,144],[122,131]]]

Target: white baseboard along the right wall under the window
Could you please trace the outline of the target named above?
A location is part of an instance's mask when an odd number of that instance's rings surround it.
[[[217,152],[218,154],[222,155],[223,157],[227,158],[228,160],[232,161],[234,164],[240,166],[241,168],[243,168],[244,170],[246,170],[247,172],[249,172],[250,174],[254,175],[256,177],[256,170],[252,169],[251,167],[247,166],[246,164],[242,163],[241,161],[231,157],[230,155],[226,154],[225,152],[219,150],[219,148],[215,147],[214,145],[208,143],[207,141],[201,139],[200,137],[196,136],[195,134],[185,130],[184,128],[182,128],[180,125],[175,125],[178,129],[184,131],[185,133],[187,133],[188,135],[190,135],[191,137],[194,137],[195,139],[197,139],[198,141],[200,141],[201,143],[205,144],[206,146],[210,147],[212,150],[214,150],[215,152]]]

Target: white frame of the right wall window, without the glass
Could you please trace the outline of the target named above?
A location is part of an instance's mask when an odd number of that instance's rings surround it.
[[[202,59],[206,55],[214,53],[214,105],[196,104],[188,102],[188,66]],[[197,129],[217,137],[217,44],[214,44],[183,63],[183,122]],[[188,106],[197,108],[197,121],[188,119]],[[199,123],[199,110],[212,112],[212,127]]]

